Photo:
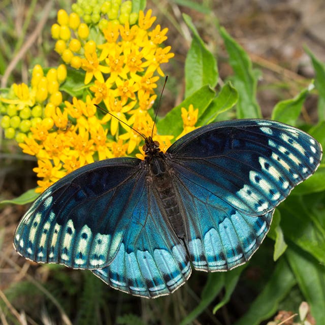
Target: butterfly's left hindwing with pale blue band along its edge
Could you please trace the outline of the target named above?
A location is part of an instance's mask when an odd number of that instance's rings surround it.
[[[133,223],[111,265],[92,270],[113,288],[145,298],[171,294],[191,274],[183,243],[165,222],[150,182],[138,180],[140,200]],[[145,224],[138,218],[146,215]]]

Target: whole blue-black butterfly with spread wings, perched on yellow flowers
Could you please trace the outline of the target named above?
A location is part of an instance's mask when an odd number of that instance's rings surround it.
[[[244,264],[274,209],[319,166],[320,144],[263,119],[195,129],[166,153],[97,161],[35,201],[14,235],[19,254],[91,270],[115,289],[156,298],[200,271]]]

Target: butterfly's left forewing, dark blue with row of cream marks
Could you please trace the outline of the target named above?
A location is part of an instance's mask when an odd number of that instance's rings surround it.
[[[72,268],[109,265],[138,201],[140,161],[98,161],[50,186],[17,226],[14,246],[18,253],[32,261]]]

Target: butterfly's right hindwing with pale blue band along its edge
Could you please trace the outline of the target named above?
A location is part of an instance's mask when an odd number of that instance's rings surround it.
[[[274,210],[249,216],[180,173],[176,183],[187,215],[186,246],[193,267],[227,271],[247,262],[268,233]]]

